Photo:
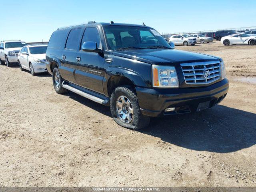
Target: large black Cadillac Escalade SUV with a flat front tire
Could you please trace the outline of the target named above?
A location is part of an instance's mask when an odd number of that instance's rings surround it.
[[[153,28],[88,22],[58,28],[46,51],[57,93],[75,92],[110,106],[121,126],[138,130],[150,116],[201,111],[228,92],[224,62],[174,50]]]

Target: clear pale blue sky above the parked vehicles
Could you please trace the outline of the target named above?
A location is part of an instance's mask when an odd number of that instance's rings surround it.
[[[142,24],[158,32],[256,26],[256,0],[1,0],[0,40],[48,41],[88,21]]]

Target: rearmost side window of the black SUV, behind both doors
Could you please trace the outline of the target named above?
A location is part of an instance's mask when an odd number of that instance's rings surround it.
[[[57,30],[53,32],[50,41],[48,43],[49,48],[60,48],[64,44],[67,35],[67,30]]]

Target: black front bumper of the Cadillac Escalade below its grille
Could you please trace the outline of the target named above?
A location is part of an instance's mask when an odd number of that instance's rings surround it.
[[[159,116],[182,114],[197,111],[198,105],[210,101],[209,107],[221,102],[228,93],[228,80],[200,88],[150,89],[136,87],[142,114]],[[175,107],[175,111],[164,112],[166,108]]]

